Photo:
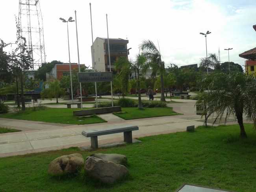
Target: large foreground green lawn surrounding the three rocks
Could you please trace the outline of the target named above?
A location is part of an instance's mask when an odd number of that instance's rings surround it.
[[[256,132],[245,126],[247,139],[239,139],[238,126],[200,127],[140,138],[142,143],[79,151],[78,148],[0,158],[4,192],[174,192],[182,183],[236,192],[256,191]],[[128,157],[130,175],[122,182],[104,185],[84,176],[55,178],[48,164],[61,155],[120,153]]]

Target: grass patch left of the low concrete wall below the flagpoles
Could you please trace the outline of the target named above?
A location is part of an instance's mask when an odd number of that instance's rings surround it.
[[[26,108],[25,112],[20,111],[19,113],[7,113],[1,114],[0,117],[32,120],[32,121],[43,121],[50,123],[63,123],[63,124],[93,124],[106,122],[102,118],[92,115],[84,118],[78,118],[73,116],[73,111],[77,111],[76,108],[47,108],[45,110],[32,111],[31,108]]]

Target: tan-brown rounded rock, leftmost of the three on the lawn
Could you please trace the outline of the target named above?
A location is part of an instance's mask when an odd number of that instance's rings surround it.
[[[81,170],[83,166],[84,160],[81,154],[63,155],[49,164],[48,173],[54,176],[72,174]]]

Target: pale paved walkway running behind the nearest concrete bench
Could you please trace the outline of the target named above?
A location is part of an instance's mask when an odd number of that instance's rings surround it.
[[[198,119],[199,120],[199,119]],[[139,126],[138,131],[133,131],[133,138],[186,131],[187,126],[201,126],[202,122],[195,119],[188,120],[187,116],[165,116],[144,118],[137,120],[124,120],[90,125],[49,125],[45,122],[13,120],[0,118],[0,126],[6,124],[20,127],[30,127],[35,130],[5,133],[0,135],[0,157],[22,155],[41,151],[59,150],[72,146],[90,146],[90,138],[83,137],[82,131],[91,129],[109,129],[115,126]],[[18,127],[16,127],[18,128]],[[122,133],[103,135],[98,137],[99,144],[123,140]]]

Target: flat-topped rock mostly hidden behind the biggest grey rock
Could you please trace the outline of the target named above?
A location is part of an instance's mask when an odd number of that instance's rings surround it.
[[[106,161],[112,161],[117,164],[127,165],[127,157],[125,155],[95,153],[95,154],[91,155],[91,157],[97,157],[99,159],[103,159]]]

